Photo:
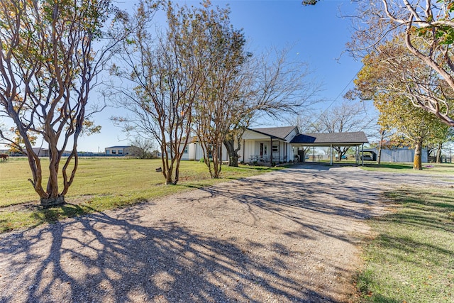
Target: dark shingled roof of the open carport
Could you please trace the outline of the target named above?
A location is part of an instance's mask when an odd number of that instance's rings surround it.
[[[290,143],[309,146],[355,146],[369,142],[364,132],[353,133],[300,133]]]

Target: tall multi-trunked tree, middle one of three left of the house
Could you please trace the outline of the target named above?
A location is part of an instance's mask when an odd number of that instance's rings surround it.
[[[162,153],[162,174],[166,184],[177,184],[179,162],[192,132],[193,105],[206,74],[206,24],[201,11],[187,6],[165,5],[167,31],[153,37],[149,27],[156,6],[141,2],[126,24],[136,28],[123,44],[124,66],[114,65],[111,73],[123,80],[113,88],[122,96],[117,104],[131,116],[116,117],[128,131],[151,133]]]

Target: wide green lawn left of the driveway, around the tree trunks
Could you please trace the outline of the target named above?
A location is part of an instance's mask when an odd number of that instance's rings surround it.
[[[43,159],[43,169],[48,160]],[[71,216],[124,207],[148,199],[206,187],[218,182],[250,177],[277,167],[223,166],[221,179],[213,180],[204,163],[182,161],[179,183],[165,185],[162,173],[155,168],[160,160],[128,158],[82,158],[77,175],[65,197],[67,204],[50,209],[38,207],[38,195],[28,182],[30,168],[25,158],[0,162],[0,232],[38,226]],[[43,183],[45,184],[45,183]],[[11,210],[7,206],[20,206]]]

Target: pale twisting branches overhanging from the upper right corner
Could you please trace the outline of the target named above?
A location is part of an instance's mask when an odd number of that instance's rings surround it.
[[[402,33],[399,37],[406,53],[425,65],[436,78],[436,89],[413,90],[411,104],[454,126],[454,103],[450,95],[454,90],[454,1],[382,0],[381,4],[380,17],[373,18],[386,20],[383,30]]]

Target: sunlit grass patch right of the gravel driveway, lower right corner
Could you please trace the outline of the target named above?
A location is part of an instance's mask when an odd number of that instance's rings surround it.
[[[454,302],[454,189],[387,192],[357,278],[362,302]]]

